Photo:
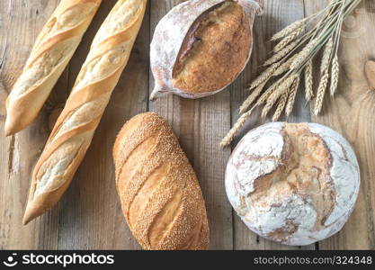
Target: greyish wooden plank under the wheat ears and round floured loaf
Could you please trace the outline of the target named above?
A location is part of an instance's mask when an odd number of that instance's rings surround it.
[[[272,34],[280,31],[290,23],[293,23],[304,16],[303,3],[299,0],[273,0],[266,1],[265,10],[262,17],[258,17],[254,24],[254,51],[253,57],[246,67],[245,72],[237,79],[234,85],[231,86],[232,101],[232,123],[235,123],[239,117],[238,108],[246,99],[248,92],[245,90],[246,83],[250,82],[252,78],[257,76],[261,71],[263,61],[270,56],[272,51],[272,43],[267,42],[271,39]],[[264,46],[265,45],[265,46]],[[310,113],[308,106],[304,103],[304,94],[299,89],[296,107],[290,115],[288,121],[300,122],[309,121]],[[242,138],[248,130],[253,129],[267,120],[262,120],[259,112],[255,112],[253,117],[248,121],[246,127],[242,130],[237,140]],[[285,121],[285,118],[281,119]],[[234,145],[237,144],[235,141]],[[274,243],[264,238],[258,237],[251,230],[247,229],[246,225],[240,220],[236,213],[234,219],[235,231],[235,248],[236,249],[314,249],[315,245],[306,247],[288,247],[278,243]]]

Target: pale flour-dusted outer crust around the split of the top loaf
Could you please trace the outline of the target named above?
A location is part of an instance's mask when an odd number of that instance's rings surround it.
[[[239,1],[230,1],[236,2],[243,7],[244,17],[243,20],[248,20],[248,22],[243,23],[245,28],[249,27],[250,29],[241,30],[241,33],[228,29],[224,29],[224,32],[229,34],[231,37],[231,42],[237,40],[240,42],[241,46],[248,46],[247,48],[247,55],[244,59],[237,59],[237,64],[241,67],[233,67],[234,64],[228,65],[228,67],[236,69],[237,72],[231,76],[231,80],[227,85],[220,85],[219,89],[210,89],[210,91],[205,91],[204,89],[200,89],[199,91],[186,91],[183,90],[178,85],[174,84],[174,66],[178,62],[178,58],[180,55],[180,51],[183,48],[184,42],[186,41],[185,38],[189,34],[189,32],[194,27],[194,23],[197,20],[201,19],[201,15],[207,13],[212,8],[218,7],[222,4],[225,4],[228,0],[190,0],[185,1],[182,4],[177,4],[174,8],[166,14],[160,22],[156,25],[156,30],[154,33],[153,40],[150,45],[150,66],[152,73],[155,77],[155,88],[150,96],[151,100],[156,99],[161,94],[166,93],[173,93],[180,95],[185,98],[201,98],[204,96],[208,96],[211,94],[216,94],[219,91],[223,90],[226,86],[228,86],[246,67],[246,63],[250,59],[252,49],[253,49],[253,40],[246,40],[246,38],[238,38],[236,34],[247,34],[251,38],[253,36],[252,26],[254,23],[255,14],[261,14],[263,11],[263,0],[239,0]],[[231,18],[233,20],[233,18]],[[228,25],[226,27],[233,27],[237,25],[234,22],[227,22]],[[222,23],[221,23],[222,24]],[[221,27],[221,26],[220,26]],[[233,36],[234,35],[234,36]],[[214,31],[212,31],[211,38],[216,40],[217,37],[214,35]],[[228,37],[227,37],[228,38]],[[232,46],[230,42],[227,44],[229,47]],[[227,47],[228,47],[227,46]],[[234,48],[238,48],[235,46]],[[220,48],[221,47],[221,48]],[[219,46],[220,51],[215,53],[211,51],[211,55],[207,55],[207,58],[215,58],[219,57],[220,53],[228,54],[230,49],[226,49],[225,44]],[[222,49],[228,51],[222,51]],[[212,49],[214,50],[214,49]],[[242,56],[242,53],[237,53],[237,56]],[[204,56],[203,56],[204,57]],[[228,56],[226,56],[228,57]],[[213,60],[213,65],[217,65]],[[219,60],[217,62],[220,62]],[[197,63],[198,66],[199,63]],[[225,69],[225,67],[218,67],[214,70],[214,72],[219,72],[219,69]],[[197,76],[196,71],[199,71],[199,67],[195,68],[196,70],[192,71],[192,76]],[[205,72],[207,75],[210,75],[210,72],[206,70]],[[199,75],[198,75],[199,76]],[[202,75],[201,75],[202,76]],[[211,76],[210,76],[211,77]],[[205,82],[204,78],[199,78],[201,82]],[[212,80],[207,77],[207,80],[210,80],[213,84]],[[206,83],[206,82],[205,82]],[[196,89],[195,89],[196,90]]]

